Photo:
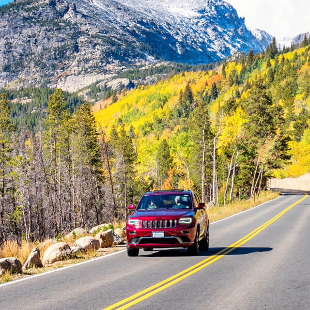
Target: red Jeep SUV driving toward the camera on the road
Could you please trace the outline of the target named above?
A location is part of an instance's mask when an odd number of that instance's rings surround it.
[[[145,193],[126,224],[127,254],[139,249],[187,248],[192,255],[209,248],[209,218],[205,203],[190,190],[155,190]]]

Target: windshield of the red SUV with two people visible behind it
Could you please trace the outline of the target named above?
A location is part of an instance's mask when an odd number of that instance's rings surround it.
[[[191,209],[190,195],[158,194],[142,197],[137,210]]]

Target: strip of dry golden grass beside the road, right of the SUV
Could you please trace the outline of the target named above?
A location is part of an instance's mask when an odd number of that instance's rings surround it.
[[[260,197],[258,199],[255,199],[255,201],[248,199],[245,201],[234,202],[232,205],[226,205],[225,207],[219,206],[219,207],[211,208],[208,210],[209,220],[210,222],[214,222],[221,218],[229,217],[238,212],[253,208],[256,205],[259,205],[263,202],[267,202],[268,200],[275,199],[278,196],[279,196],[279,193],[277,192],[266,191],[265,194],[261,193]]]

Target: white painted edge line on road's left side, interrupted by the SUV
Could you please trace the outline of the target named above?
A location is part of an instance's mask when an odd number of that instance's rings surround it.
[[[272,200],[268,200],[267,202],[272,202],[272,201],[275,201],[277,199],[279,199],[281,196],[275,198],[275,199],[272,199]],[[248,211],[251,211],[257,207],[260,207],[261,205],[267,203],[267,202],[263,202],[259,205],[256,205],[255,207],[253,208],[250,208],[248,210],[244,210],[244,211],[241,211],[239,213],[236,213],[234,215],[231,215],[229,217],[225,217],[225,218],[222,218],[222,219],[219,219],[218,221],[215,221],[215,222],[212,222],[210,223],[209,225],[212,225],[212,224],[216,224],[218,222],[221,222],[221,221],[224,221],[226,219],[229,219],[231,217],[236,217],[237,215],[240,215],[242,213],[245,213],[245,212],[248,212]],[[57,269],[53,269],[53,270],[49,270],[49,271],[46,271],[46,272],[42,272],[42,273],[39,273],[37,275],[33,275],[33,276],[30,276],[30,277],[25,277],[25,278],[22,278],[22,279],[18,279],[18,280],[14,280],[14,281],[10,281],[10,282],[7,282],[7,283],[3,283],[3,284],[0,284],[0,287],[3,287],[3,286],[6,286],[6,285],[10,285],[10,284],[14,284],[14,283],[17,283],[17,282],[21,282],[21,281],[25,281],[25,280],[28,280],[28,279],[33,279],[33,278],[36,278],[36,277],[41,277],[41,276],[44,276],[44,275],[47,275],[49,273],[53,273],[53,272],[57,272],[57,271],[62,271],[64,269],[67,269],[67,268],[71,268],[71,267],[75,267],[75,266],[78,266],[78,265],[81,265],[83,263],[91,263],[91,262],[94,262],[94,261],[97,261],[97,260],[100,260],[100,259],[103,259],[103,258],[106,258],[106,257],[109,257],[111,255],[115,255],[115,254],[118,254],[118,253],[122,253],[126,250],[120,250],[120,251],[117,251],[117,252],[114,252],[114,253],[110,253],[110,254],[107,254],[107,255],[103,255],[103,256],[100,256],[100,257],[96,257],[96,258],[93,258],[93,259],[90,259],[88,261],[84,261],[84,262],[81,262],[81,263],[75,263],[75,264],[72,264],[72,265],[69,265],[69,266],[64,266],[64,267],[61,267],[61,268],[57,268]]]

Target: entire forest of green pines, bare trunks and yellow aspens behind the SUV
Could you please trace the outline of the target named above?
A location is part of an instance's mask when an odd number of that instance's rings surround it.
[[[309,172],[309,65],[305,36],[124,90],[95,113],[57,89],[35,127],[14,121],[2,92],[0,243],[123,221],[150,189],[194,189],[221,207]]]

